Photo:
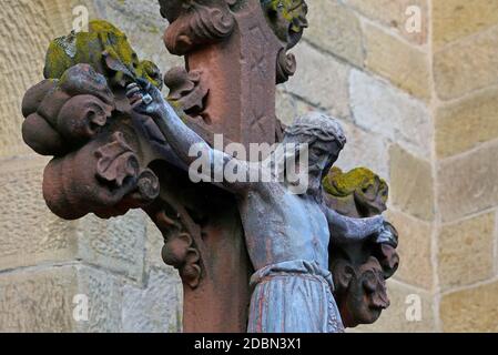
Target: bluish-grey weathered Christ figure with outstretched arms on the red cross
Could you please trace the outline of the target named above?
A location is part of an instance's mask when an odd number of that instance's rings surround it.
[[[143,98],[152,98],[144,102]],[[128,87],[134,110],[150,115],[176,155],[189,166],[197,159],[189,152],[197,146],[209,156],[213,169],[235,158],[212,149],[187,128],[163,99],[161,92],[145,81]],[[237,196],[247,251],[255,274],[248,332],[261,333],[336,333],[344,326],[328,271],[329,243],[348,243],[380,235],[384,217],[350,219],[328,209],[323,201],[322,180],[336,162],[346,143],[337,121],[312,113],[295,121],[283,144],[307,144],[308,186],[301,194],[292,185],[272,182],[223,181],[224,187]],[[254,164],[236,161],[250,174]]]

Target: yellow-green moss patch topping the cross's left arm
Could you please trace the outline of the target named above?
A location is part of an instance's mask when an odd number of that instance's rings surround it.
[[[60,79],[71,67],[87,63],[103,74],[111,87],[125,85],[138,78],[149,80],[161,88],[157,67],[150,61],[140,61],[126,36],[113,24],[94,20],[89,32],[71,32],[50,43],[44,77]]]

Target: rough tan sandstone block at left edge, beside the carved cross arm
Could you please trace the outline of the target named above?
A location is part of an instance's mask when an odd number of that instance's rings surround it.
[[[0,163],[0,270],[67,261],[77,254],[75,222],[50,212],[42,196],[47,159]]]

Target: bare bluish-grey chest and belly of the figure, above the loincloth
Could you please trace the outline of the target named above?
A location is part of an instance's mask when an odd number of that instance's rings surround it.
[[[255,270],[294,260],[327,268],[328,223],[316,200],[265,183],[240,197],[238,209]]]

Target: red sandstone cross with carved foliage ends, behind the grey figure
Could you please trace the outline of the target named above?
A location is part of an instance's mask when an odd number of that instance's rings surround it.
[[[250,277],[262,265],[253,248],[247,253],[238,197],[230,189],[191,182],[171,144],[174,136],[153,112],[132,106],[126,91],[142,83],[146,106],[165,83],[170,93],[162,102],[174,109],[166,116],[179,118],[210,144],[215,133],[245,146],[281,141],[275,84],[296,70],[287,51],[307,27],[307,7],[303,0],[160,4],[170,21],[164,42],[172,54],[185,57],[184,68],[163,79],[155,64],[138,59],[121,31],[92,21],[89,32],[51,43],[45,80],[24,97],[23,138],[38,153],[54,156],[44,171],[43,195],[59,216],[108,219],[143,209],[155,222],[164,236],[163,260],[183,281],[184,331],[245,332]],[[344,145],[341,130],[331,134]],[[332,170],[324,189],[323,205],[336,220],[380,221],[387,185],[372,172]],[[335,290],[346,327],[375,322],[388,305],[385,280],[397,268],[397,236],[387,222],[382,225],[368,230],[373,237],[323,247],[328,265],[322,267],[334,276],[325,277],[328,293]]]

